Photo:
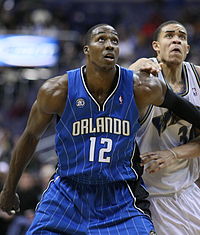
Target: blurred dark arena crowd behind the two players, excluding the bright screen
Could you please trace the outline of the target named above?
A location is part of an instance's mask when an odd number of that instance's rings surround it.
[[[119,64],[127,67],[151,57],[152,33],[166,20],[178,20],[188,30],[188,60],[200,64],[200,1],[184,0],[0,0],[0,37],[37,35],[57,41],[51,66],[0,65],[0,190],[9,169],[14,143],[22,133],[38,88],[48,78],[84,64],[82,42],[98,23],[113,25],[120,35]],[[0,47],[0,59],[1,59]],[[37,57],[34,59],[37,61]],[[0,212],[1,235],[23,235],[54,172],[54,122],[41,139],[18,187],[21,212]]]

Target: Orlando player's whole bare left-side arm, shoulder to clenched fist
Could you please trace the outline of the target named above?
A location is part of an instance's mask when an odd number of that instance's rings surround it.
[[[10,214],[18,210],[15,191],[21,174],[30,162],[41,135],[50,124],[53,115],[61,115],[66,102],[66,77],[48,80],[40,88],[34,102],[26,128],[12,152],[9,174],[0,195],[0,208]]]

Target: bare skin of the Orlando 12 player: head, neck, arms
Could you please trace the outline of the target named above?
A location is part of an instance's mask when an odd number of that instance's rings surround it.
[[[86,56],[84,73],[87,88],[102,105],[116,82],[116,62],[119,55],[116,30],[109,25],[96,28],[83,51]],[[142,113],[149,104],[162,104],[167,88],[160,80],[152,79],[146,71],[141,71],[135,75],[133,89],[138,110]],[[8,214],[19,210],[19,198],[16,194],[18,181],[54,115],[62,115],[67,91],[66,74],[47,80],[39,89],[26,128],[13,149],[9,174],[0,194],[0,208]]]

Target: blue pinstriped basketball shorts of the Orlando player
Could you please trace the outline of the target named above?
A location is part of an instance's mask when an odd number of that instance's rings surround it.
[[[26,235],[155,234],[127,182],[80,184],[55,174]]]

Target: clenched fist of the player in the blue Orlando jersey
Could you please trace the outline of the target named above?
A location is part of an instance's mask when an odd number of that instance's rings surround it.
[[[14,215],[19,212],[19,196],[17,193],[8,194],[2,191],[0,194],[0,209],[8,215]]]

